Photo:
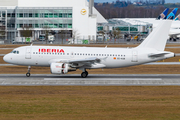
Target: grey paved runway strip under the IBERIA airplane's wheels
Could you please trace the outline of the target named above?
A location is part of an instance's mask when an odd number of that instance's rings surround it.
[[[180,86],[180,75],[170,74],[90,74],[80,75],[1,74],[0,86]]]

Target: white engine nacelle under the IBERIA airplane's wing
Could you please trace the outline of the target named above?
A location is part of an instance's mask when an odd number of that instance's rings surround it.
[[[66,74],[70,67],[66,63],[52,63],[50,69],[52,74]]]

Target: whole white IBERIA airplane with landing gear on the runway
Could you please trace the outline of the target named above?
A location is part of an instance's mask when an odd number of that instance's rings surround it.
[[[174,57],[164,51],[172,20],[161,20],[161,24],[135,48],[23,46],[6,54],[3,60],[10,64],[48,66],[52,74],[66,74],[82,70],[81,77],[88,76],[87,69],[121,68],[141,65]]]

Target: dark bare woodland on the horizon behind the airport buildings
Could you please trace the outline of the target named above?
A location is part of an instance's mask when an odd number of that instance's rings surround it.
[[[162,0],[163,2],[164,0]],[[119,7],[123,3],[117,1],[117,4],[96,4],[96,9],[106,18],[156,18],[165,9],[164,6],[152,6],[146,3],[146,6],[138,7],[128,4],[126,7]],[[117,5],[117,6],[116,6]],[[149,5],[149,6],[148,6]]]

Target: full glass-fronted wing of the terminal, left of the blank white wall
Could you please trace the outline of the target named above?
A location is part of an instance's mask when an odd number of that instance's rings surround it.
[[[36,38],[43,29],[72,31],[72,16],[72,7],[0,7],[0,40],[21,36],[23,27],[37,33]]]

